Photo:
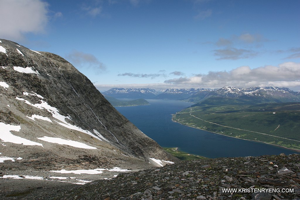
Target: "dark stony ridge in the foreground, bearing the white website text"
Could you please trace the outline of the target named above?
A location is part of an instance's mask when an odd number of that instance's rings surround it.
[[[38,180],[34,180],[38,181]],[[39,188],[6,199],[299,199],[300,155],[184,161],[83,186]],[[222,189],[248,189],[224,192]],[[273,189],[259,193],[259,189]],[[286,190],[293,189],[293,191]],[[257,190],[257,191],[255,191]]]

